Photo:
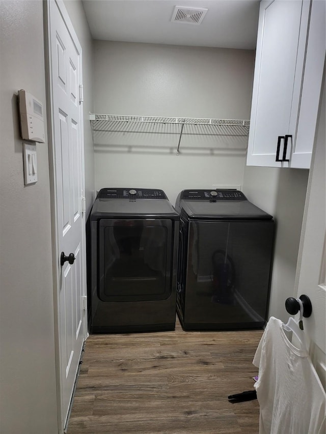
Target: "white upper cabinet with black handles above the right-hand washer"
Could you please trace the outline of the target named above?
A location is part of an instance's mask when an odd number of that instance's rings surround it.
[[[261,2],[248,165],[310,167],[325,40],[324,1]]]

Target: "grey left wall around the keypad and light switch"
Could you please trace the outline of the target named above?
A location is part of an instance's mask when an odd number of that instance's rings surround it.
[[[47,138],[24,186],[17,92],[45,109],[43,5],[0,3],[0,432],[55,434],[57,386]]]

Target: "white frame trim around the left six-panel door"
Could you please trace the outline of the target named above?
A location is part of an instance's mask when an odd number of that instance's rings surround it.
[[[57,202],[57,179],[56,179],[56,155],[55,155],[55,140],[53,129],[53,90],[51,86],[51,47],[50,47],[50,11],[49,2],[56,2],[60,13],[67,24],[68,31],[72,39],[77,42],[76,48],[80,53],[80,59],[82,61],[82,47],[78,42],[77,35],[74,31],[72,22],[69,18],[68,12],[64,6],[63,0],[46,0],[43,2],[44,7],[44,35],[45,35],[45,72],[46,72],[46,98],[47,98],[47,131],[48,131],[48,147],[49,147],[49,169],[50,169],[50,202],[51,202],[51,226],[52,226],[52,267],[53,267],[53,298],[55,306],[55,351],[56,351],[56,377],[57,377],[57,402],[58,402],[58,428],[59,432],[64,432],[65,420],[62,412],[62,377],[61,377],[61,345],[60,345],[60,249],[59,249],[59,236],[58,236],[58,202]],[[83,70],[80,68],[80,83],[83,83]],[[80,141],[81,141],[81,153],[82,153],[82,196],[85,197],[85,156],[84,156],[84,113],[83,104],[79,105],[80,109]],[[84,211],[84,210],[83,210]],[[82,213],[83,227],[86,228],[86,215],[85,211]],[[83,294],[87,296],[86,290],[86,233],[83,232],[83,257],[82,257],[82,269],[83,269]],[[84,310],[84,340],[88,335],[87,330],[87,308],[85,303]]]

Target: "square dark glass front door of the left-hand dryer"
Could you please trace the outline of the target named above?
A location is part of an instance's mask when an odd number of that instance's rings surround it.
[[[172,221],[99,221],[99,298],[165,300],[171,294]]]

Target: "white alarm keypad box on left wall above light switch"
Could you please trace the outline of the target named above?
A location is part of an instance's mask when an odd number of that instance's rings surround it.
[[[21,136],[25,140],[45,142],[43,104],[26,91],[18,91]]]

